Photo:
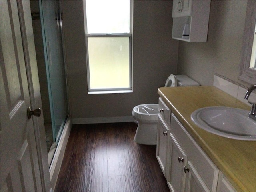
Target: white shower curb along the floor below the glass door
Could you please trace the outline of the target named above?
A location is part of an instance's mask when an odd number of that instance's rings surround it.
[[[63,128],[62,135],[60,136],[60,141],[58,143],[58,146],[56,148],[56,151],[54,153],[54,157],[52,159],[52,163],[50,166],[50,179],[51,179],[53,191],[55,190],[55,187],[56,187],[56,182],[60,172],[60,167],[64,157],[66,145],[68,143],[68,137],[71,131],[71,127],[72,127],[72,121],[71,121],[71,118],[68,117],[66,124]]]

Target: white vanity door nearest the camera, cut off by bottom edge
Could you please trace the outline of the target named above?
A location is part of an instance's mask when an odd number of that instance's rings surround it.
[[[209,188],[204,183],[200,174],[196,171],[196,168],[188,160],[188,166],[184,166],[184,172],[186,171],[186,192],[210,192]]]

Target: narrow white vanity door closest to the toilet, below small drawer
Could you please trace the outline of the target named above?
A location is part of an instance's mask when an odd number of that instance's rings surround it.
[[[169,128],[165,124],[164,120],[158,115],[158,133],[157,133],[157,147],[156,147],[156,158],[164,176],[166,176],[166,154],[168,145],[168,134]]]

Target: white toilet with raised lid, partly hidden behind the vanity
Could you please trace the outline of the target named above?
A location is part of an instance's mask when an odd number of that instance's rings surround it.
[[[200,86],[200,84],[186,75],[171,74],[164,86]],[[156,145],[158,114],[158,104],[140,104],[133,108],[132,116],[138,122],[134,142],[144,145]]]

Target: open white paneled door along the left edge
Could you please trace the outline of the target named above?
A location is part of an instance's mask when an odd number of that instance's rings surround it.
[[[30,55],[34,54],[28,43],[33,36],[26,34],[30,30],[26,20],[29,17],[31,20],[29,1],[1,0],[0,6],[1,192],[49,191],[50,177],[46,174],[49,169],[46,170],[42,155],[44,147],[39,147],[38,152],[38,146],[42,144],[40,131],[36,130],[39,139],[34,131],[34,118],[37,117],[27,117],[28,106],[36,103],[36,97],[30,98],[35,86],[28,83],[33,82],[31,68],[26,71],[32,62]]]

